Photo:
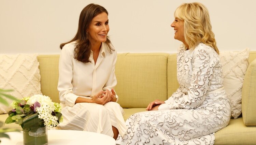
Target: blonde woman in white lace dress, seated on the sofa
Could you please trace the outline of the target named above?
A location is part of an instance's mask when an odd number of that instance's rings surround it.
[[[213,145],[214,132],[229,123],[231,107],[207,8],[184,3],[174,17],[174,39],[183,43],[177,53],[180,87],[168,100],[131,115],[117,144]]]

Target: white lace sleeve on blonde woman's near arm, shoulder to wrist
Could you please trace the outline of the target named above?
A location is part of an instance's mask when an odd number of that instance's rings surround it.
[[[214,63],[211,61],[209,53],[212,52],[207,48],[198,48],[193,51],[190,87],[183,89],[182,96],[179,94],[179,97],[175,97],[175,95],[170,97],[171,99],[168,99],[160,109],[166,108],[164,107],[166,105],[168,105],[169,109],[194,109],[203,103],[213,77]],[[177,91],[179,90],[180,88]],[[184,90],[187,90],[187,92]]]

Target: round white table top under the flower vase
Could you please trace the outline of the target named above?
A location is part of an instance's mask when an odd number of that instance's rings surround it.
[[[7,132],[11,139],[1,137],[0,145],[23,145],[23,134]],[[105,134],[76,131],[76,130],[48,130],[48,145],[115,145],[113,137]]]

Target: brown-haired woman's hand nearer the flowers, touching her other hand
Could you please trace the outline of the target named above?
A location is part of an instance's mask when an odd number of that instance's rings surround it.
[[[111,92],[109,90],[106,90],[104,96],[102,96],[102,94],[103,91],[100,91],[96,95],[94,95],[93,98],[91,98],[92,103],[104,105],[111,100]]]

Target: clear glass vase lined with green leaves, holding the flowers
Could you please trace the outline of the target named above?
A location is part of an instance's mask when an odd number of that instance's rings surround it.
[[[48,134],[47,127],[44,126],[44,122],[40,121],[23,129],[23,144],[24,145],[47,145]]]

